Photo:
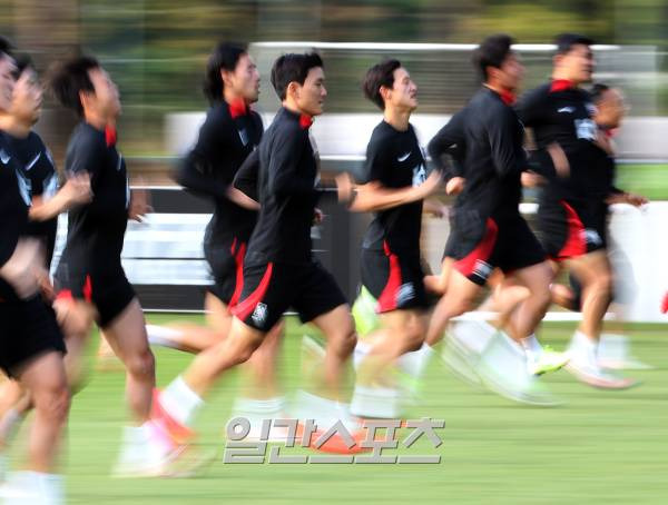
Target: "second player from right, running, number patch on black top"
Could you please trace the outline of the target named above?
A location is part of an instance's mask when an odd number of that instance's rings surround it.
[[[612,275],[606,253],[605,218],[593,174],[601,149],[591,96],[580,86],[589,82],[595,61],[592,41],[563,33],[557,37],[552,79],[528,92],[518,113],[531,128],[539,151],[558,146],[553,162],[540,169],[548,182],[539,199],[538,224],[554,271],[561,264],[582,284],[582,320],[574,333],[568,369],[596,387],[623,388],[628,382],[606,374],[597,363],[602,319],[611,300]],[[542,157],[546,160],[546,157]]]

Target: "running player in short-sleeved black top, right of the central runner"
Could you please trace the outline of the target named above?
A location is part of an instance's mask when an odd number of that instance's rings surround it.
[[[418,107],[418,87],[399,60],[372,67],[365,97],[383,111],[366,148],[362,187],[351,210],[373,211],[362,245],[362,285],[377,300],[380,338],[373,338],[357,367],[351,412],[361,417],[401,415],[400,396],[387,383],[387,366],[422,347],[428,307],[420,258],[422,200],[438,189],[429,178],[415,130],[409,122]]]

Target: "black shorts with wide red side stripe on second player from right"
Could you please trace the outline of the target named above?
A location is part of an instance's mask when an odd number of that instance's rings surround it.
[[[566,200],[538,209],[540,238],[556,261],[577,258],[607,247],[607,215]]]

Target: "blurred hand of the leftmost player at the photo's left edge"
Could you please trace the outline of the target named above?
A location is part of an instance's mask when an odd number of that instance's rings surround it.
[[[19,298],[28,299],[39,291],[42,265],[43,248],[39,240],[21,238],[0,268],[0,277],[11,285]]]

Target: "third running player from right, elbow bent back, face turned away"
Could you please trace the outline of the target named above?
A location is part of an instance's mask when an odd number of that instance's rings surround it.
[[[449,320],[471,309],[480,288],[498,267],[510,283],[530,291],[513,311],[508,328],[524,349],[525,369],[540,375],[560,368],[567,358],[542,349],[534,336],[550,303],[551,271],[540,244],[519,214],[520,177],[529,165],[522,123],[512,108],[523,67],[511,43],[510,37],[497,34],[479,46],[474,63],[482,88],[461,120],[446,125],[430,142],[432,159],[439,160],[442,149],[461,146],[463,140],[465,184],[452,212],[445,251],[454,264],[445,294],[430,319],[426,341],[439,341]],[[520,377],[525,375],[519,373]],[[543,395],[532,393],[533,382],[522,379],[517,394],[509,396],[542,402]]]

